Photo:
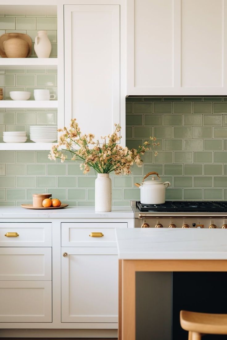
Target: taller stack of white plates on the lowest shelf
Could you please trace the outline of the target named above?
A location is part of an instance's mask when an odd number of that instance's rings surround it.
[[[52,143],[58,138],[56,126],[30,126],[30,139],[35,143]]]

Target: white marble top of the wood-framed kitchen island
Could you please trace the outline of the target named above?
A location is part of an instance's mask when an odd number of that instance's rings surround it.
[[[119,259],[227,259],[226,229],[116,229]]]

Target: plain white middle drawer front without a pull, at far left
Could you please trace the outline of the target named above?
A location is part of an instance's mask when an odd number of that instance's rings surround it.
[[[0,248],[0,280],[51,280],[51,248]]]

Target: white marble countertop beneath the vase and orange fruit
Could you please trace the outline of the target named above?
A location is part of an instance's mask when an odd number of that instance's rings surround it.
[[[52,210],[0,207],[1,218],[134,218],[134,213],[131,207],[112,207],[110,212],[96,212],[94,207],[68,206]]]

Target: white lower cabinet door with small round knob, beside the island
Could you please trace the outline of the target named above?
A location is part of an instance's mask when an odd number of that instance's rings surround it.
[[[62,248],[62,322],[117,322],[117,301],[117,248]]]

